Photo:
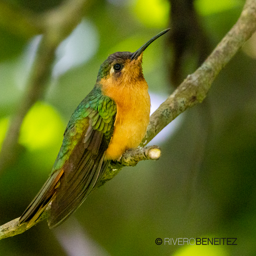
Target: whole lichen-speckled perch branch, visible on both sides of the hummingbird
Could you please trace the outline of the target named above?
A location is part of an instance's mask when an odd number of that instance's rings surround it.
[[[202,66],[192,75],[189,75],[172,95],[170,95],[151,115],[147,134],[140,144],[141,147],[145,146],[158,132],[187,108],[204,100],[213,80],[220,70],[236,54],[244,42],[252,36],[255,30],[256,0],[247,0],[236,24],[222,39]],[[111,162],[99,186],[112,179],[124,165],[133,166],[137,161],[143,160],[143,154],[148,150],[148,147],[140,150],[141,148],[134,151],[127,151],[119,162]],[[137,158],[137,156],[139,157]],[[133,157],[136,158],[136,160],[132,159]],[[132,162],[130,162],[130,160],[132,160]],[[36,223],[46,217],[47,212],[44,212],[43,216],[41,216]],[[4,224],[0,227],[0,239],[24,232],[27,228],[23,226],[24,225],[21,227],[18,226],[18,219]]]

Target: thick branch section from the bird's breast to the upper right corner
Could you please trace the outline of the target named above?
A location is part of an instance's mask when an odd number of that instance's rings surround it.
[[[256,30],[256,1],[247,0],[241,16],[210,56],[150,116],[147,134],[140,146],[152,140],[167,124],[204,100],[213,80]]]

